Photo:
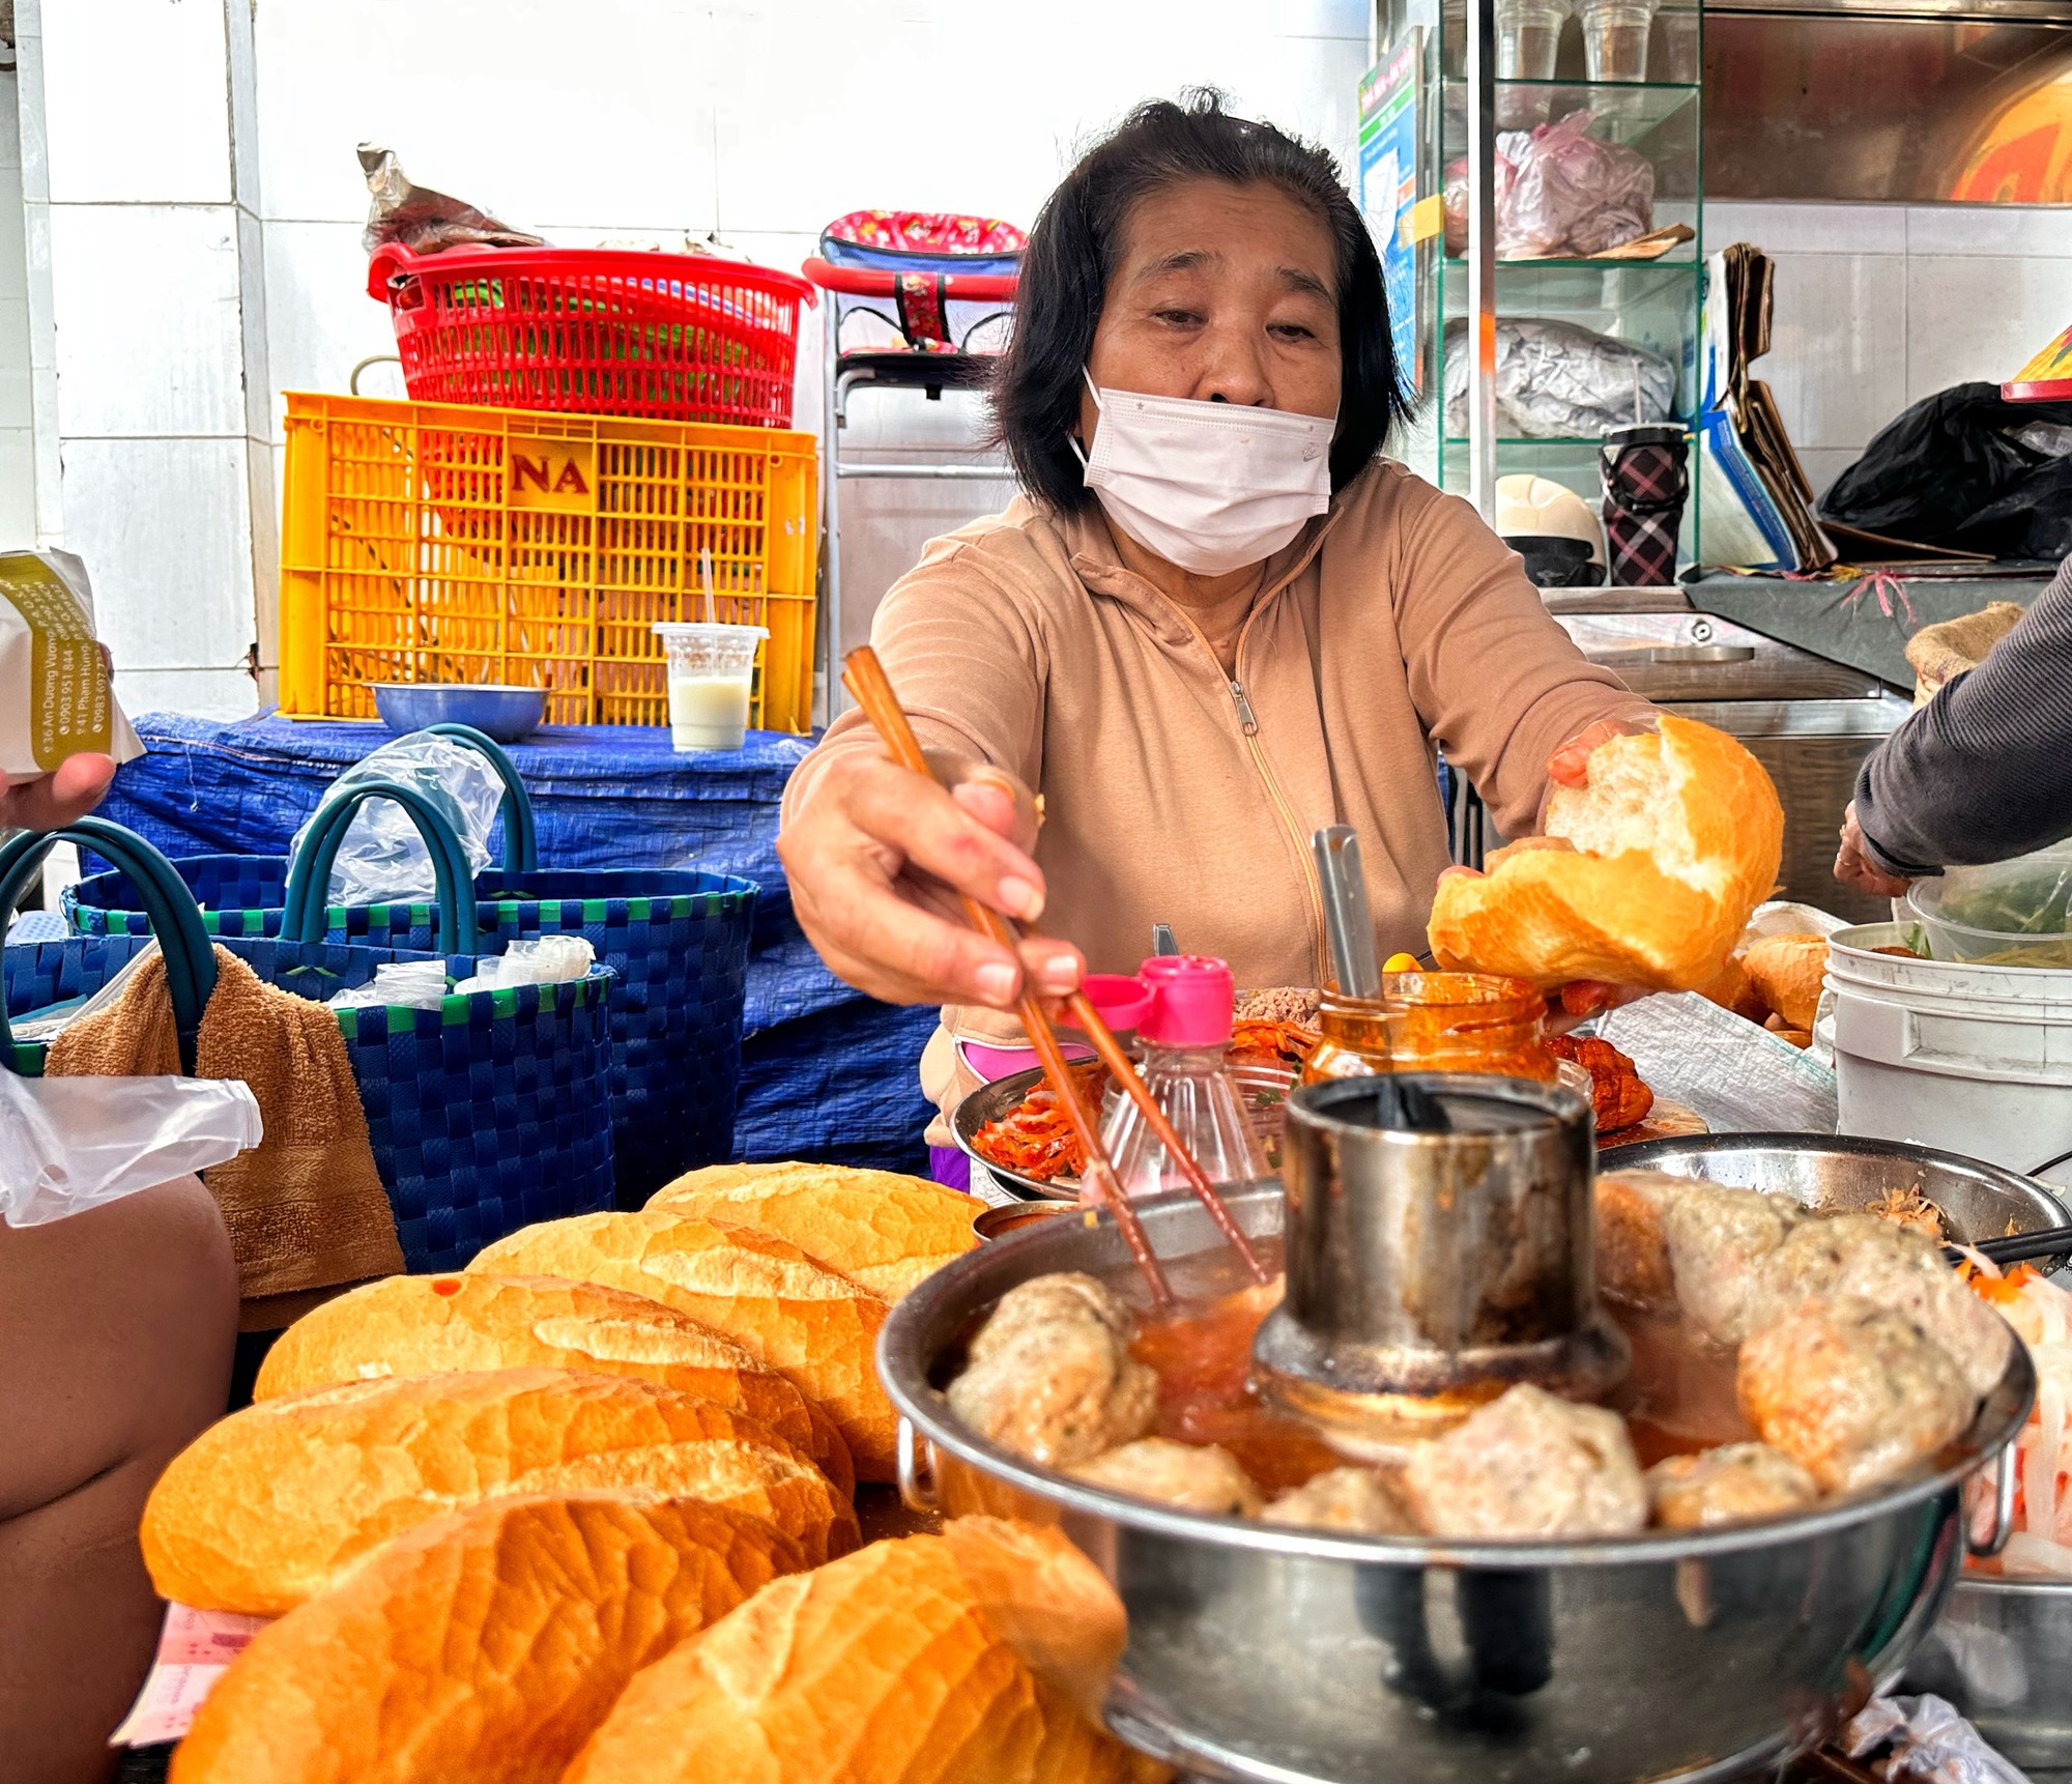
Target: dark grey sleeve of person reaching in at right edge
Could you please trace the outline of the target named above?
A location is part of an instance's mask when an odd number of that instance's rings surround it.
[[[2072,559],[1985,663],[1879,744],[1857,777],[1857,823],[1906,876],[2072,835]]]

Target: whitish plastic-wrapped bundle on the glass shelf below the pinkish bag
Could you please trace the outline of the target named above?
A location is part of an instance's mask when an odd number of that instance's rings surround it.
[[[1571,321],[1496,323],[1496,412],[1504,433],[1595,439],[1608,427],[1668,421],[1676,367],[1645,346]],[[1467,433],[1467,319],[1446,323],[1446,433]]]

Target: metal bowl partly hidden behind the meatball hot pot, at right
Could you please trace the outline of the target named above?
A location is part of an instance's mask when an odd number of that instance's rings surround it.
[[[1687,1140],[1608,1146],[1598,1154],[1598,1169],[1668,1171],[1674,1177],[1701,1177],[1730,1189],[1790,1196],[1807,1208],[1830,1212],[1869,1208],[1890,1189],[1919,1189],[1941,1210],[1944,1231],[1958,1243],[2072,1225],[2064,1202],[2035,1179],[1904,1140],[1699,1133]],[[2062,1264],[2062,1258],[2037,1260],[2041,1270],[2055,1270]]]

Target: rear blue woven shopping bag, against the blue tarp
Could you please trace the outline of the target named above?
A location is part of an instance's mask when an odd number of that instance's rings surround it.
[[[466,725],[433,731],[481,750],[503,779],[503,866],[477,876],[485,953],[530,934],[580,934],[611,968],[611,1129],[620,1206],[733,1154],[742,1073],[742,1007],[756,885],[690,868],[543,868],[533,802],[510,756]],[[189,856],[174,870],[224,937],[280,934],[290,862]],[[137,893],[120,872],[64,893],[83,934],[141,932]],[[329,905],[325,937],[385,947],[433,945],[425,903]]]

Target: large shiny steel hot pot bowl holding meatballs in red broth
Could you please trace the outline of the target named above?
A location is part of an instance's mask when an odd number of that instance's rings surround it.
[[[1274,1185],[1227,1200],[1247,1233],[1278,1235]],[[1191,1198],[1140,1212],[1183,1293],[1235,1283]],[[1038,1220],[893,1307],[879,1374],[901,1488],[916,1506],[1059,1525],[1129,1612],[1109,1724],[1214,1780],[1728,1780],[1811,1745],[1935,1620],[1964,1550],[1960,1486],[2033,1394],[2016,1347],[1933,1469],[1805,1517],[1583,1544],[1328,1535],[1100,1492],[959,1426],[941,1392],[959,1347],[1051,1270],[1133,1291],[1109,1216]]]

